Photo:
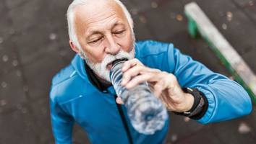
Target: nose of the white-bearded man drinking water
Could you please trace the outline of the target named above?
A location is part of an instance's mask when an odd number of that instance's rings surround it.
[[[120,45],[116,43],[112,35],[106,37],[106,42],[105,42],[106,53],[109,53],[111,55],[116,55],[117,53],[119,53],[120,49],[121,49]]]

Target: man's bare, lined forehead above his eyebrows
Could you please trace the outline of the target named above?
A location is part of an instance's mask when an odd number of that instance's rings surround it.
[[[118,19],[118,21],[121,21],[124,25],[128,23],[127,17],[121,9],[121,6],[119,6],[119,4],[116,2],[105,4],[92,2],[90,4],[88,3],[87,5],[77,6],[74,9],[75,31],[77,35],[84,36],[88,33],[88,30],[90,30],[91,27],[93,27],[94,30],[95,28],[98,28],[98,31],[102,31],[103,29],[101,30],[100,28],[101,25],[103,23],[106,23],[107,25],[111,17],[116,17],[114,19]]]

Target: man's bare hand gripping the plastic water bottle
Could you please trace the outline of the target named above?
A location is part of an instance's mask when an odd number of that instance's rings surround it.
[[[148,81],[155,96],[158,96],[170,111],[186,112],[194,103],[194,97],[182,91],[176,76],[171,73],[148,68],[137,59],[126,61],[121,71],[123,71],[121,85],[132,89],[138,84]],[[116,102],[123,103],[119,97]]]

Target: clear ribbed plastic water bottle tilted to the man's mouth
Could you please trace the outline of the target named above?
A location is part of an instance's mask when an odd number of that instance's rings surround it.
[[[146,135],[152,135],[155,131],[163,128],[168,117],[166,107],[163,106],[160,99],[153,95],[147,82],[132,89],[121,86],[123,63],[124,61],[120,60],[114,62],[110,73],[111,83],[117,96],[127,107],[129,119],[135,130]]]

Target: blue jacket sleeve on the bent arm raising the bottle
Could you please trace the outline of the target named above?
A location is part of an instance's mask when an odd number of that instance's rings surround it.
[[[182,87],[197,88],[208,99],[208,109],[197,120],[202,124],[231,120],[252,111],[252,102],[242,86],[226,76],[214,73],[202,63],[168,45],[168,66]]]

